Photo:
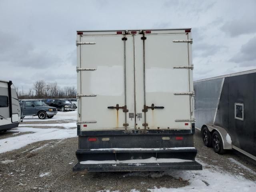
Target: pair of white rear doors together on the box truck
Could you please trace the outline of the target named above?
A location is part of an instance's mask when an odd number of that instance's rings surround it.
[[[189,129],[189,39],[185,30],[78,35],[81,130]]]

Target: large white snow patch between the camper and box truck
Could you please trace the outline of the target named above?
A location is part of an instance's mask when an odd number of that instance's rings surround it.
[[[24,134],[16,137],[10,137],[0,140],[0,153],[8,152],[11,150],[19,149],[27,144],[38,141],[53,140],[53,139],[66,139],[77,136],[76,129],[57,129],[57,128],[31,128],[31,127],[18,127],[12,132],[34,132],[31,134]]]

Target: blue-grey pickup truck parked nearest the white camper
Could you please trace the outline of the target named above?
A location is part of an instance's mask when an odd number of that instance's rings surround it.
[[[25,116],[38,116],[40,119],[52,118],[57,114],[57,109],[52,106],[44,106],[38,100],[26,100],[21,106],[21,118]]]

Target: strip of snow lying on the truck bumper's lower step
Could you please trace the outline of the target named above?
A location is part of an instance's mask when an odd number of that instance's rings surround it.
[[[108,161],[81,161],[80,164],[113,164],[112,166],[116,166],[119,163],[128,163],[128,164],[135,164],[136,166],[143,166],[143,163],[179,163],[179,162],[192,162],[192,160],[185,160],[185,159],[175,159],[175,158],[159,158],[156,159],[155,157],[151,157],[148,159],[131,159],[131,160],[108,160]]]

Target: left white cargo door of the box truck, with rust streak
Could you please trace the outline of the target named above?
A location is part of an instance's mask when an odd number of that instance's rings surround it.
[[[132,56],[132,43],[125,54],[127,41],[122,37],[83,35],[78,40],[78,122],[82,131],[134,128],[134,118],[128,119],[130,110],[134,111],[133,66],[127,66],[125,60],[126,54]],[[131,98],[126,98],[126,92]]]

